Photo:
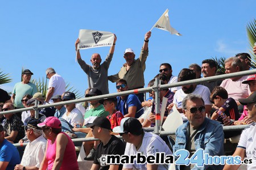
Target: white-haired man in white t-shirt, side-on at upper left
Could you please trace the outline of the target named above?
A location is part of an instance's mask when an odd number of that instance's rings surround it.
[[[53,68],[48,68],[46,70],[46,78],[49,79],[46,102],[53,103],[51,97],[55,95],[62,95],[65,92],[66,83],[62,76],[57,74]]]

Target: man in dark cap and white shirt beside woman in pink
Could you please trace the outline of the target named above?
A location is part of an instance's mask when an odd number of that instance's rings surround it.
[[[29,143],[24,150],[21,163],[15,166],[15,170],[39,169],[46,152],[46,139],[43,137],[42,128],[38,127],[40,123],[40,120],[32,118],[27,126],[24,126]]]

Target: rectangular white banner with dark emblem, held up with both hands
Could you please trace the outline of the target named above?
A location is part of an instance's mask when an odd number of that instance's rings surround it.
[[[80,29],[79,40],[80,42],[77,45],[77,49],[112,46],[114,42],[114,34],[105,31]]]

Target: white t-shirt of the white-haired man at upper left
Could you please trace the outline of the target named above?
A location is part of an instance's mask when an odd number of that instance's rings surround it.
[[[55,95],[62,95],[65,92],[66,83],[62,76],[56,73],[49,79],[48,88],[50,87],[54,87],[52,97]],[[53,103],[53,101],[49,100],[49,103]]]

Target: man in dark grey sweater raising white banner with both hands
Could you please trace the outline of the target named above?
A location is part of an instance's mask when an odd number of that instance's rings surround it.
[[[88,38],[89,39],[89,38]],[[99,42],[97,37],[93,37],[94,41]],[[105,61],[101,64],[101,56],[98,53],[92,54],[90,62],[92,62],[92,66],[88,65],[84,60],[81,59],[81,55],[79,49],[83,49],[80,44],[80,39],[77,39],[75,42],[75,47],[77,51],[77,62],[81,66],[82,70],[87,74],[88,77],[88,86],[89,88],[97,87],[103,95],[109,94],[109,84],[108,84],[108,69],[110,62],[112,61],[114,49],[115,49],[115,41],[117,41],[117,37],[114,35],[114,41],[112,46],[110,47],[109,54],[106,57]],[[77,45],[79,49],[77,49]],[[96,46],[94,46],[96,47]]]

